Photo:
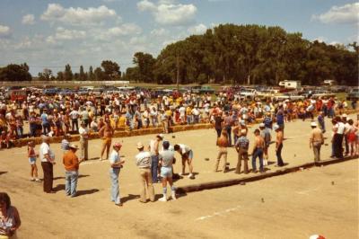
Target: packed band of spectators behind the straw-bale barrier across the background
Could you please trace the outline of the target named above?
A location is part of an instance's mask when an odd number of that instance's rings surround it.
[[[105,122],[109,122],[114,130],[162,127],[163,133],[168,133],[172,125],[210,122],[215,108],[228,112],[234,119],[253,122],[263,118],[267,112],[274,117],[281,104],[285,121],[313,120],[315,111],[334,118],[348,108],[346,101],[325,97],[277,102],[273,98],[245,99],[234,93],[153,95],[141,91],[70,96],[30,94],[23,102],[0,102],[0,145],[11,147],[16,139],[22,137],[58,137],[79,133],[81,122],[92,132],[98,132]],[[355,104],[352,107],[355,108]]]

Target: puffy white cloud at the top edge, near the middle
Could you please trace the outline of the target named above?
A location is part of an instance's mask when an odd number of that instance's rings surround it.
[[[197,7],[194,4],[174,4],[172,1],[160,1],[153,4],[148,0],[137,3],[139,11],[153,14],[154,21],[162,25],[188,25],[194,22]]]

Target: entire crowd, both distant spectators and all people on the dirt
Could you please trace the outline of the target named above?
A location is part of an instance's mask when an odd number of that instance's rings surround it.
[[[21,107],[20,112],[18,108]],[[66,195],[76,197],[80,164],[89,159],[89,135],[98,132],[102,139],[101,160],[109,160],[109,181],[111,185],[110,199],[115,205],[123,206],[120,197],[118,177],[126,163],[119,155],[122,145],[112,144],[115,130],[132,130],[134,128],[162,127],[163,133],[150,141],[148,146],[138,142],[136,166],[140,178],[140,202],[147,199],[154,201],[153,183],[162,182],[162,198],[160,201],[176,198],[176,188],[173,184],[175,173],[173,164],[175,154],[181,158],[181,172],[186,172],[188,178],[195,179],[193,169],[193,151],[184,144],[171,145],[164,140],[169,128],[176,124],[196,124],[199,122],[212,123],[215,128],[218,155],[215,159],[214,171],[221,169],[228,173],[227,155],[233,147],[238,155],[234,173],[265,173],[270,156],[268,148],[275,144],[276,166],[282,167],[285,161],[282,150],[285,139],[285,124],[295,119],[310,119],[311,136],[309,146],[313,150],[314,161],[320,161],[320,147],[324,144],[324,133],[328,130],[325,118],[331,118],[332,157],[343,158],[345,155],[359,155],[358,120],[352,120],[342,111],[346,103],[336,99],[307,99],[304,101],[254,101],[239,99],[235,95],[229,97],[220,93],[216,98],[212,95],[197,95],[185,93],[180,97],[171,96],[150,98],[146,93],[104,94],[101,99],[90,96],[50,97],[29,96],[26,102],[19,105],[0,105],[1,147],[10,147],[13,141],[24,137],[24,120],[29,122],[28,137],[41,136],[43,143],[36,152],[32,141],[28,144],[28,158],[31,165],[31,181],[39,179],[37,158],[43,171],[43,190],[55,193],[53,188],[53,167],[56,164],[55,155],[50,146],[50,137],[63,136],[62,164],[65,168]],[[318,118],[315,120],[315,115]],[[253,142],[248,124],[260,121],[258,128],[252,132]],[[276,137],[272,140],[272,131]],[[69,143],[70,133],[80,135],[80,146]],[[251,147],[250,147],[251,146]],[[251,149],[250,149],[251,148]],[[80,149],[80,155],[76,155]],[[112,150],[111,150],[112,149]],[[345,151],[344,151],[345,150]],[[251,169],[249,157],[251,156]],[[259,166],[257,166],[257,160]],[[243,169],[241,165],[243,164]],[[167,184],[171,188],[171,197],[167,196]],[[21,225],[16,208],[11,207],[10,199],[5,193],[0,193],[0,207],[6,220],[0,221],[0,236],[13,235]],[[10,222],[9,222],[10,220]]]

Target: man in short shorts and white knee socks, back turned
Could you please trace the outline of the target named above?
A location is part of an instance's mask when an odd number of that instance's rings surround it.
[[[172,181],[172,164],[175,160],[174,152],[170,150],[170,142],[163,141],[163,151],[159,155],[161,167],[161,177],[162,177],[162,187],[163,187],[163,198],[160,201],[167,201],[167,181],[171,186],[171,198],[176,199],[176,191],[173,186]]]

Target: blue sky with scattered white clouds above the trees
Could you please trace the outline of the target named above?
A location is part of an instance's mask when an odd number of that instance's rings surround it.
[[[347,44],[358,41],[358,14],[354,0],[1,0],[0,66],[27,62],[37,75],[110,59],[125,70],[136,51],[156,57],[167,44],[226,22]]]

